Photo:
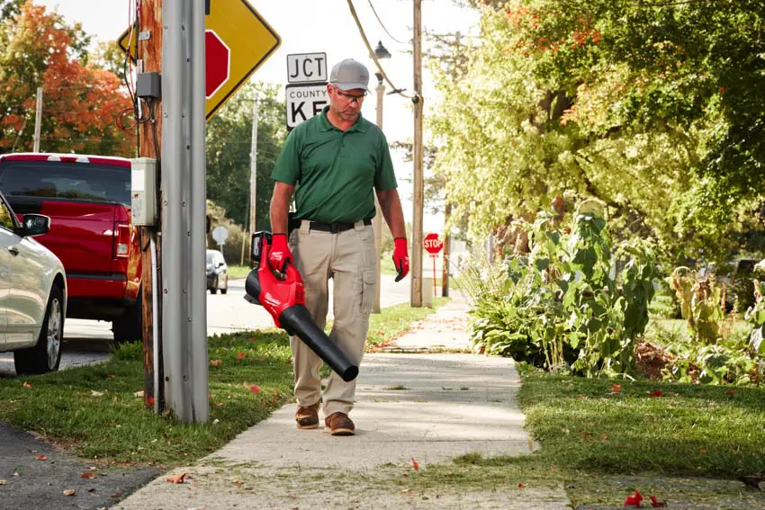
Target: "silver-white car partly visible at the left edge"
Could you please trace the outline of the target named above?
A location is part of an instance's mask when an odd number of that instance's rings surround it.
[[[67,306],[67,274],[56,255],[32,239],[50,219],[20,222],[0,193],[0,352],[13,351],[17,374],[58,370]]]

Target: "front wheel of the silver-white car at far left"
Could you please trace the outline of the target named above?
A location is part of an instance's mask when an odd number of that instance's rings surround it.
[[[16,373],[34,374],[57,371],[61,362],[61,340],[64,337],[64,292],[53,285],[40,327],[37,344],[14,353]]]

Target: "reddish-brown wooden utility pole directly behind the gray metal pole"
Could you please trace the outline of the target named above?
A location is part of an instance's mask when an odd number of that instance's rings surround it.
[[[149,34],[148,39],[135,40],[136,55],[139,58],[139,71],[161,72],[162,70],[162,6],[161,0],[142,0],[139,9],[138,25],[140,31]],[[136,31],[136,33],[139,32]],[[157,184],[160,182],[161,161],[157,154],[157,148],[162,144],[162,103],[152,105],[153,117],[151,121],[142,122],[138,125],[139,130],[139,157],[151,157],[157,160]],[[149,112],[145,112],[148,115]],[[162,203],[159,186],[156,186],[157,204]],[[157,210],[160,210],[157,208]],[[160,210],[161,215],[161,210]],[[161,218],[161,216],[160,216]],[[154,409],[155,413],[161,414],[165,410],[164,385],[160,383],[164,379],[162,367],[162,341],[161,336],[155,330],[161,331],[162,307],[161,300],[157,303],[157,313],[154,313],[154,276],[159,274],[161,266],[157,260],[157,228],[138,227],[140,244],[141,264],[141,291],[139,294],[141,310],[141,336],[143,339],[143,364],[144,385],[143,403],[148,409]],[[157,266],[157,273],[152,272],[152,265]],[[155,345],[155,342],[157,344]],[[154,400],[152,402],[152,399]]]

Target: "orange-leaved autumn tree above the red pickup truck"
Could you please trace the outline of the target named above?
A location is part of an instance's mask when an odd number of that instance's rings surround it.
[[[130,98],[118,76],[89,63],[79,24],[31,1],[0,6],[0,153],[32,149],[41,86],[40,150],[132,156],[135,139],[117,123]]]

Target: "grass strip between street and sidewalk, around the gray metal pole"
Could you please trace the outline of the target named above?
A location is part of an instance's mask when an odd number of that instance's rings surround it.
[[[408,303],[383,309],[370,319],[368,346],[401,336],[445,301],[436,300],[432,309]],[[185,425],[143,408],[141,348],[123,344],[102,364],[0,379],[0,421],[83,459],[170,468],[217,450],[293,400],[289,337],[283,331],[210,337],[207,424]]]

